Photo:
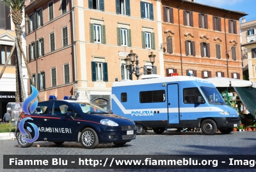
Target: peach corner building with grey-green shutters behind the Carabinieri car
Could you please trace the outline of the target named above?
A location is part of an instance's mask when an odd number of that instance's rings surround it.
[[[75,95],[111,109],[112,83],[136,79],[124,61],[131,51],[147,69],[141,73],[164,75],[160,1],[26,1],[25,12],[28,64],[40,101]]]

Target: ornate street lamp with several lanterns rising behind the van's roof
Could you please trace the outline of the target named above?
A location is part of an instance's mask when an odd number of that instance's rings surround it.
[[[148,56],[148,58],[150,59],[150,63],[152,64],[151,71],[153,71],[156,55],[154,55],[153,52],[151,52],[150,55]],[[135,54],[134,52],[132,52],[132,50],[131,50],[130,54],[128,54],[128,56],[126,56],[126,59],[124,59],[124,61],[125,61],[125,65],[127,66],[128,72],[130,70],[130,65],[132,63],[132,72],[131,73],[129,72],[129,74],[136,75],[137,80],[139,79],[140,75],[143,74],[143,73],[140,73],[141,68],[144,68],[147,72],[150,72],[145,67],[139,67],[138,54]],[[134,62],[136,64],[136,66],[134,66]]]

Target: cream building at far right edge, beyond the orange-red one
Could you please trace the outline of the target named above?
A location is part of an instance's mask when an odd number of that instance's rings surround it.
[[[249,80],[256,81],[256,20],[242,19],[241,43],[243,53],[244,72],[248,74]]]

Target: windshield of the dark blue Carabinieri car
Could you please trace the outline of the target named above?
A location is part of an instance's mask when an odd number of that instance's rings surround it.
[[[109,114],[108,111],[105,109],[102,109],[99,106],[96,106],[94,104],[86,103],[86,102],[76,102],[74,103],[74,106],[80,108],[83,113],[104,113],[104,114]]]

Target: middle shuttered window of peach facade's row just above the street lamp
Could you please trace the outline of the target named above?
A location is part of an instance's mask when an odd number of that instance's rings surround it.
[[[117,45],[131,47],[131,29],[117,27]]]

